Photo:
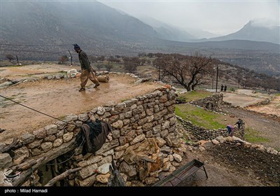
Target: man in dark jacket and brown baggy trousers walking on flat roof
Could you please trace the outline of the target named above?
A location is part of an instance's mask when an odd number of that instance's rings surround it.
[[[87,54],[83,50],[80,49],[78,44],[73,44],[74,50],[78,53],[78,58],[80,61],[80,68],[82,69],[82,73],[80,74],[80,90],[79,92],[85,90],[85,85],[87,84],[87,80],[90,78],[92,83],[94,83],[94,87],[98,87],[99,81],[95,76],[95,70],[90,66],[90,60],[87,58]]]

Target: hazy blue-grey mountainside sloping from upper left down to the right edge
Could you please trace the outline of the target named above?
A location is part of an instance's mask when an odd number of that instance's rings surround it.
[[[107,57],[137,56],[140,52],[190,55],[199,50],[224,62],[280,76],[279,44],[206,39],[183,42],[192,38],[187,32],[167,26],[157,28],[98,1],[3,1],[0,59],[17,55],[20,61],[55,61],[62,55],[69,57],[70,51],[73,61],[78,62],[73,43],[78,43],[87,55]]]

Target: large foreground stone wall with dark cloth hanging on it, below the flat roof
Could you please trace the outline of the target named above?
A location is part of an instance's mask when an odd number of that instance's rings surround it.
[[[71,114],[66,116],[63,121],[57,121],[53,125],[47,125],[44,128],[27,133],[20,137],[20,148],[13,149],[13,153],[2,153],[0,156],[0,169],[8,169],[16,165],[25,164],[30,160],[40,160],[45,156],[49,159],[41,161],[41,165],[33,164],[36,186],[41,186],[38,167],[50,164],[64,156],[67,158],[64,164],[64,170],[81,167],[80,171],[70,174],[68,178],[69,186],[92,186],[106,184],[109,173],[98,174],[97,169],[108,165],[112,160],[122,175],[127,180],[127,185],[133,181],[140,184],[152,184],[159,181],[159,174],[173,172],[181,162],[181,156],[186,148],[179,140],[176,131],[175,109],[176,93],[174,87],[158,87],[155,92],[145,94],[141,97],[126,100],[120,104],[108,103],[92,109],[88,113],[79,115]],[[75,136],[80,131],[80,127],[91,118],[105,120],[109,122],[113,130],[99,151],[95,155],[87,153],[81,154],[81,148],[73,146]],[[129,165],[123,156],[130,146],[139,146],[143,141],[153,138],[160,148],[158,157],[160,163],[155,171],[140,178],[137,164]],[[5,144],[0,144],[0,146]],[[62,155],[62,156],[61,156]],[[48,162],[46,162],[48,160]],[[55,160],[59,162],[59,160]],[[61,160],[60,160],[61,161]],[[50,164],[54,165],[54,164]],[[26,171],[22,175],[28,174],[30,167],[25,167]],[[56,168],[57,169],[57,168]],[[59,167],[58,167],[59,169]],[[30,174],[30,173],[29,173]],[[33,185],[34,181],[27,178],[23,186]],[[22,185],[22,183],[13,183],[13,185]]]

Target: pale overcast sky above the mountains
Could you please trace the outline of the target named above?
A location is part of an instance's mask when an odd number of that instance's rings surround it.
[[[100,0],[132,16],[146,15],[156,20],[186,28],[199,28],[214,34],[231,34],[249,20],[257,25],[280,25],[280,1],[245,0]]]

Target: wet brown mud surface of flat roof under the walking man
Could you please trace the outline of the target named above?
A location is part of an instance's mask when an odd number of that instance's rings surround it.
[[[158,87],[155,83],[136,85],[135,80],[125,74],[110,74],[109,83],[101,83],[98,88],[93,88],[89,80],[85,92],[78,92],[80,79],[38,80],[1,89],[1,95],[55,118],[62,118],[67,114],[90,111],[112,100],[118,103],[153,92]],[[0,134],[0,141],[19,137],[24,132],[56,121],[3,98],[0,99],[0,106],[0,125],[1,129],[6,130]]]

